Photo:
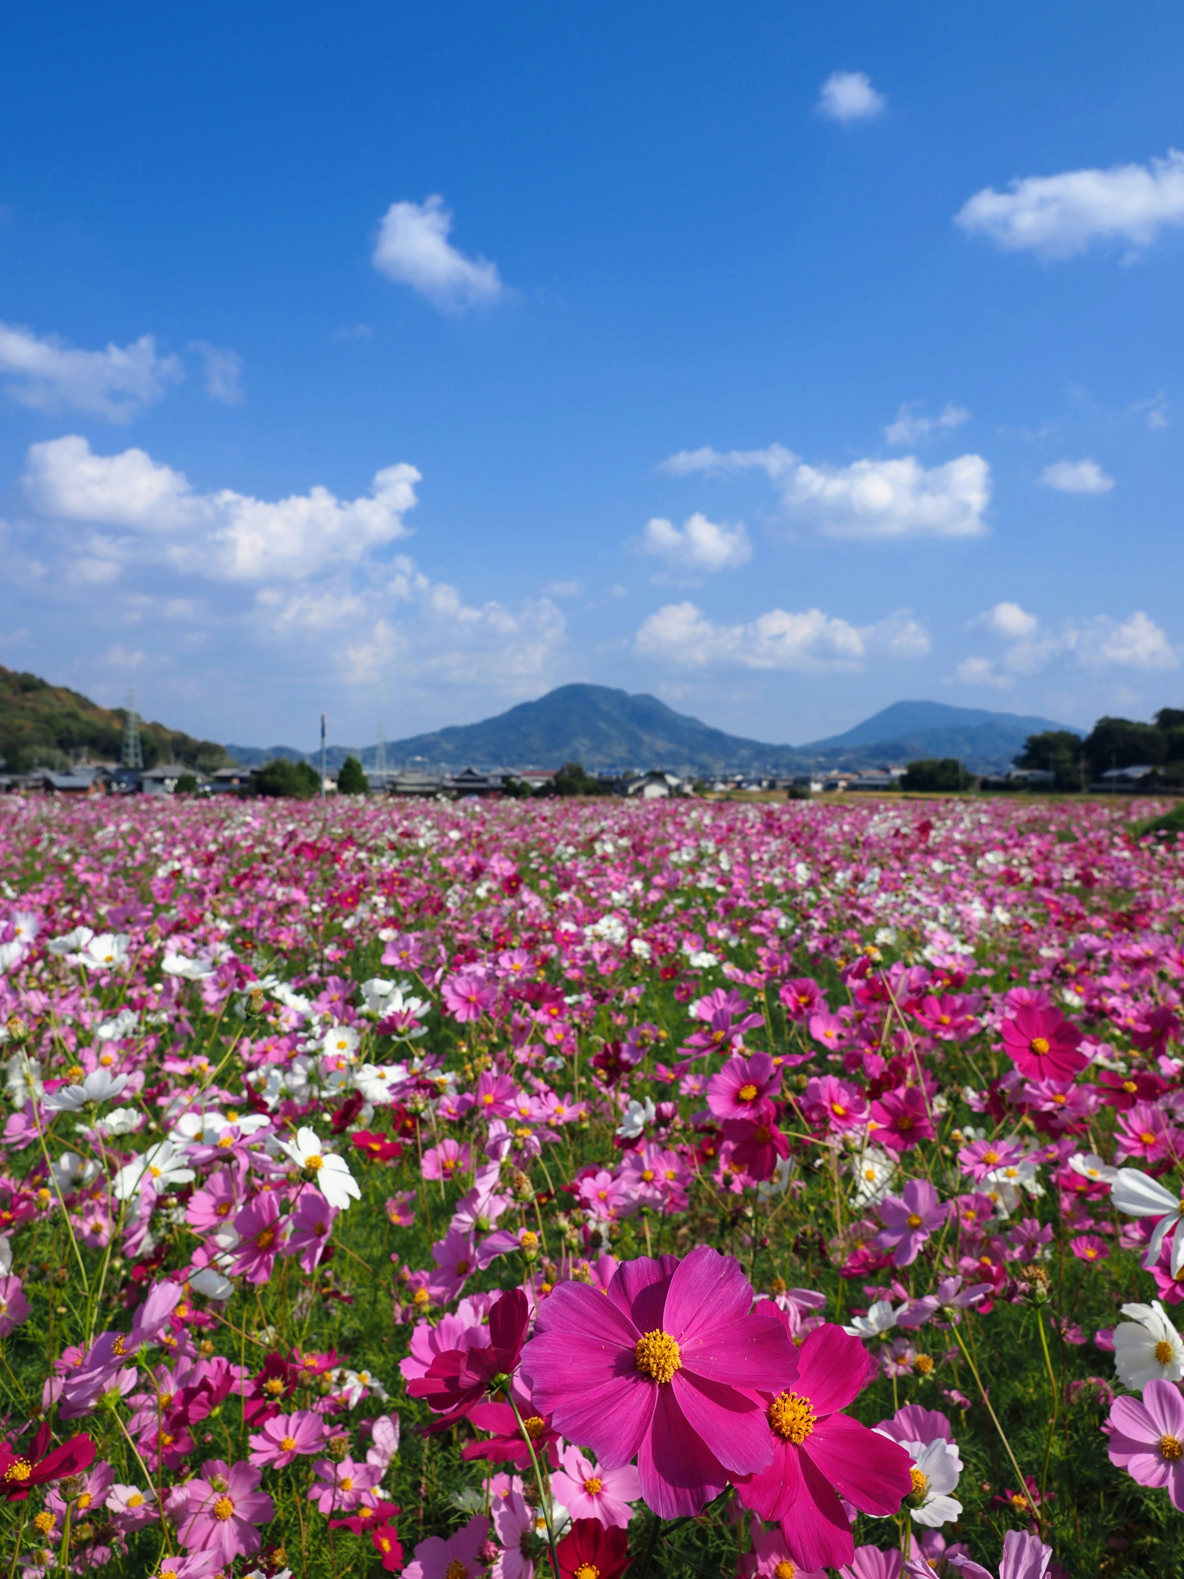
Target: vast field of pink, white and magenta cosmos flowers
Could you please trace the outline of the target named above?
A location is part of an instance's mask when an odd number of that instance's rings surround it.
[[[0,1579],[1184,1573],[1133,815],[0,801]]]

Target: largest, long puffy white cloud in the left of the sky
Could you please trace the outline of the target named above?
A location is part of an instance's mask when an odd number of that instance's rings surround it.
[[[300,579],[358,564],[407,535],[403,516],[417,482],[415,467],[399,464],[376,472],[366,499],[343,501],[322,486],[275,502],[230,488],[202,494],[145,450],[95,455],[76,434],[32,445],[22,477],[41,515],[139,532],[141,557],[227,581]]]

